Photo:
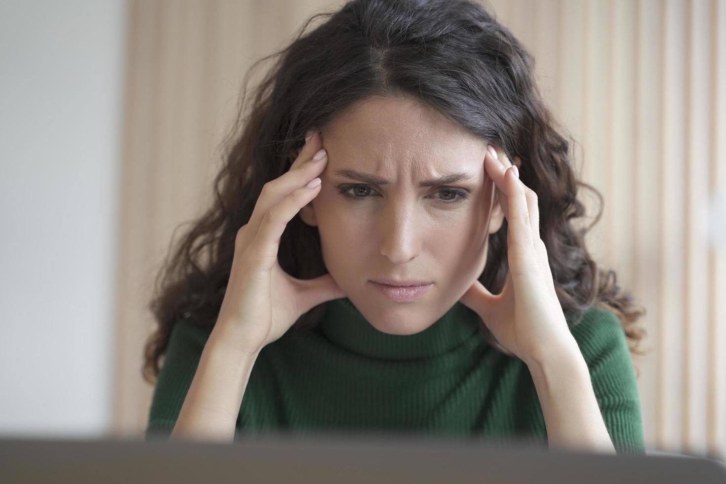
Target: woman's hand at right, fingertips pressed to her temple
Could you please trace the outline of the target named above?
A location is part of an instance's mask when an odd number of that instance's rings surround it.
[[[507,218],[509,274],[504,289],[492,295],[475,280],[460,300],[478,313],[507,350],[527,364],[541,364],[548,354],[573,348],[576,343],[555,292],[547,249],[539,237],[537,194],[521,182],[512,166],[501,149],[489,145],[484,170],[497,187],[499,205]]]

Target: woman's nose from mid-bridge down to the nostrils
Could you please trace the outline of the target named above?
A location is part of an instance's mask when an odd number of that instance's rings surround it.
[[[415,208],[387,205],[380,217],[380,253],[391,263],[405,264],[421,252]]]

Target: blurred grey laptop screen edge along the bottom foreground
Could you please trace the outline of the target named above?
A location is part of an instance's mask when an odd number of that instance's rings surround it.
[[[705,457],[606,455],[417,434],[239,435],[234,443],[0,438],[2,483],[726,483]]]

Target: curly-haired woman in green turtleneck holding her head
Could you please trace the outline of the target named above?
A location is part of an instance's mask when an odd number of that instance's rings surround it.
[[[311,20],[160,273],[147,436],[398,430],[643,453],[627,338],[644,310],[571,223],[584,184],[529,54],[465,0]]]

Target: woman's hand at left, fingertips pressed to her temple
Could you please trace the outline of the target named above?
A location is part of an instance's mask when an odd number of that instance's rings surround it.
[[[250,221],[237,231],[217,325],[224,325],[225,340],[231,337],[237,350],[250,355],[282,337],[311,308],[346,297],[330,274],[296,279],[277,261],[285,226],[320,192],[320,184],[307,186],[327,164],[327,154],[312,159],[319,151],[322,139],[314,132],[290,170],[263,186]]]

